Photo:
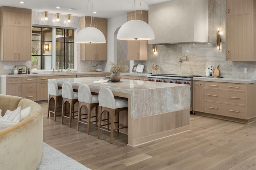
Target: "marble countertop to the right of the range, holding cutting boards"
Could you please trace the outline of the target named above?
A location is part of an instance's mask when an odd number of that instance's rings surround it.
[[[256,78],[195,77],[193,78],[193,80],[208,81],[208,82],[240,83],[240,84],[256,83]]]

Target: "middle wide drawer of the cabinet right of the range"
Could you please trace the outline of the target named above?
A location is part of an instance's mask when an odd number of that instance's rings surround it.
[[[204,89],[204,100],[240,104],[245,106],[246,94],[245,92],[232,92],[229,90]]]

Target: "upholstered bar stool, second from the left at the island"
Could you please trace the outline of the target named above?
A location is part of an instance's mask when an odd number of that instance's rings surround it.
[[[74,104],[78,102],[78,94],[74,92],[71,84],[69,82],[64,82],[62,84],[62,114],[61,114],[61,124],[63,124],[63,117],[69,118],[69,127],[71,127],[72,114],[74,118]],[[70,104],[69,117],[66,116],[66,102]],[[64,113],[65,112],[65,113]],[[77,116],[77,115],[76,115]]]

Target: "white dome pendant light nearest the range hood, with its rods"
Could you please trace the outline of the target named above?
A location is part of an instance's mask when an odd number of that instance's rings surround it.
[[[134,0],[133,6],[136,6],[136,0]],[[136,12],[136,9],[134,7]],[[140,2],[140,10],[141,10],[141,2]],[[136,16],[136,14],[135,14]],[[142,16],[142,10],[141,10]],[[142,20],[130,20],[124,23],[118,33],[117,39],[120,40],[150,40],[155,39],[153,29],[144,21]]]

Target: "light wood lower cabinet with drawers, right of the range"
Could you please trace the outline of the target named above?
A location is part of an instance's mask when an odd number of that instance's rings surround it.
[[[250,123],[256,119],[255,90],[256,84],[194,81],[193,108],[198,115]]]

